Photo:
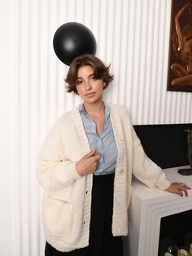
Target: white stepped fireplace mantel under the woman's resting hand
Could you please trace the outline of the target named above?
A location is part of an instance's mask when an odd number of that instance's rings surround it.
[[[186,183],[192,188],[192,176],[178,174],[180,168],[190,166],[164,169],[164,172],[171,182]],[[147,188],[133,178],[129,236],[124,238],[124,256],[157,256],[161,218],[186,210],[192,210],[192,190],[188,197],[181,197],[159,188]]]

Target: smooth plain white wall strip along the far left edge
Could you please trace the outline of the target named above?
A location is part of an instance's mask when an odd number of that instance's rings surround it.
[[[11,29],[11,2],[0,1],[0,254],[11,256],[13,254],[14,240],[14,215],[13,215],[13,136],[11,134],[11,41],[9,29]]]

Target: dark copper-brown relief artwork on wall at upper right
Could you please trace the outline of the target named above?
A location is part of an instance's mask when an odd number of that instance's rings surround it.
[[[192,0],[172,0],[167,90],[192,92]]]

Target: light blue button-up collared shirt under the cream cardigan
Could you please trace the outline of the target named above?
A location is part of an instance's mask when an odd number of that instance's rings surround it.
[[[91,149],[95,149],[96,152],[101,156],[98,161],[98,168],[95,170],[94,175],[113,173],[116,169],[118,151],[111,125],[109,107],[107,104],[105,104],[105,126],[101,135],[97,134],[96,123],[85,112],[83,104],[79,106],[79,112],[81,114],[85,133],[89,140],[89,147]]]

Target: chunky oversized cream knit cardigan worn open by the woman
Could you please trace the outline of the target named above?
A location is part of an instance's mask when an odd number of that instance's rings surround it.
[[[164,172],[146,157],[121,105],[109,105],[118,158],[114,181],[113,236],[128,234],[127,209],[134,174],[148,187],[166,189]],[[37,161],[37,178],[45,189],[42,217],[46,240],[59,251],[89,245],[93,174],[81,176],[76,162],[90,151],[78,107],[63,114],[50,130]]]

